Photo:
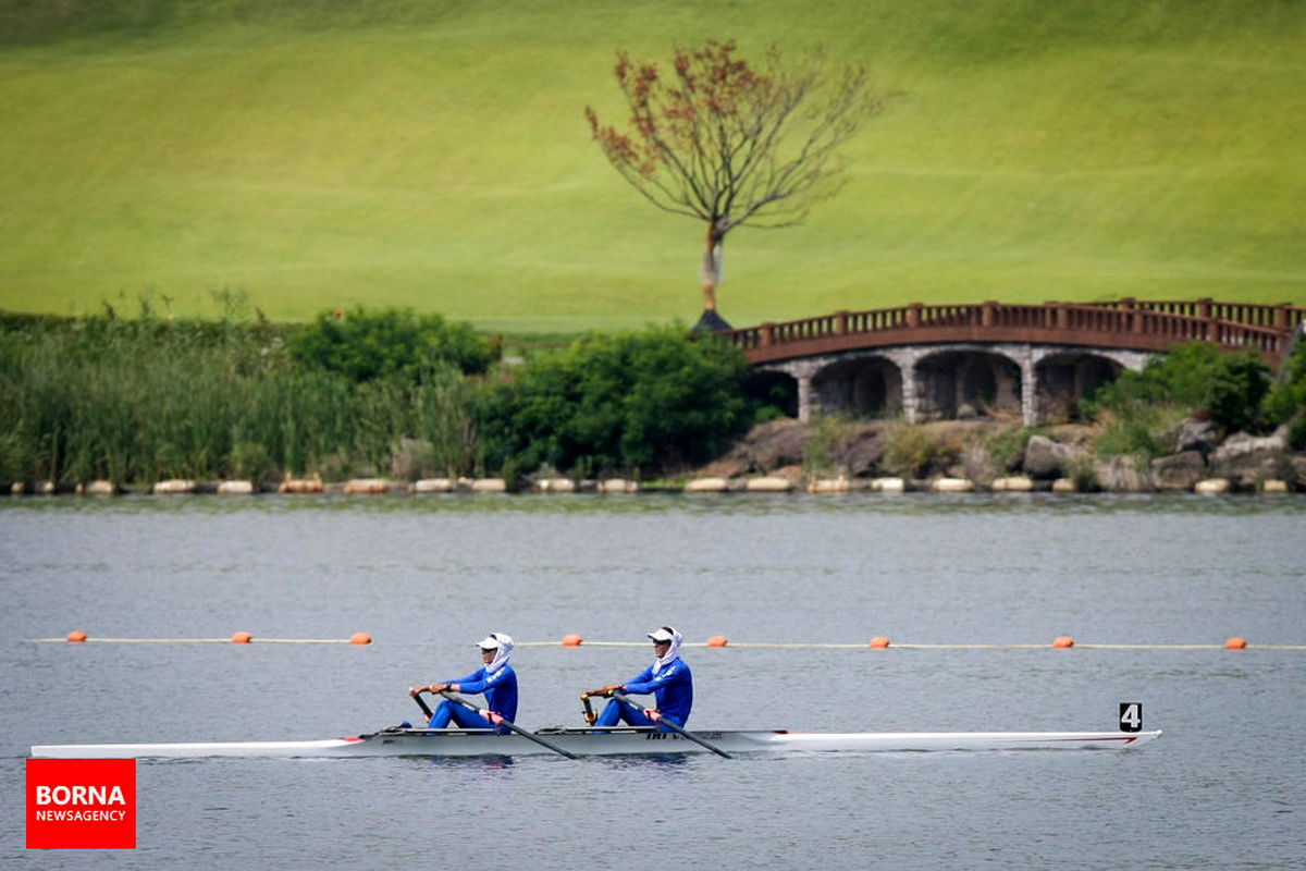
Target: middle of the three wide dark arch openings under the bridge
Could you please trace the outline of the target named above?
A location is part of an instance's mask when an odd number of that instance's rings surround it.
[[[1021,414],[1020,364],[1003,354],[949,349],[916,364],[917,419]]]

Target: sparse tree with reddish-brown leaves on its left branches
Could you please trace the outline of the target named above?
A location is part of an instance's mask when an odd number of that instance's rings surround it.
[[[760,68],[734,42],[674,54],[674,74],[618,55],[616,84],[629,104],[626,132],[586,106],[609,162],[649,202],[707,222],[699,277],[704,317],[716,315],[721,245],[748,223],[786,227],[841,187],[838,148],[879,107],[861,67],[831,74],[818,52],[781,65],[774,46]]]

